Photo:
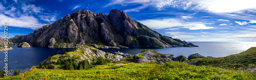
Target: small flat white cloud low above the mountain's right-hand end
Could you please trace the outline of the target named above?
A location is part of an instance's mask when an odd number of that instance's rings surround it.
[[[199,30],[199,29],[212,29],[214,27],[208,27],[205,24],[188,24],[184,28],[189,28],[189,30]]]

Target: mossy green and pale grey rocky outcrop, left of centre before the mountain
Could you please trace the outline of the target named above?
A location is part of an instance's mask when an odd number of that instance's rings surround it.
[[[107,54],[96,48],[87,46],[87,47],[77,48],[73,52],[67,52],[63,55],[54,55],[52,57],[49,57],[48,59],[41,62],[40,65],[56,64],[58,60],[68,61],[70,59],[75,59],[77,63],[79,63],[82,60],[88,60],[89,63],[91,63],[94,59],[97,59],[99,57],[102,57],[103,59],[106,59],[106,58],[113,59],[112,55]]]

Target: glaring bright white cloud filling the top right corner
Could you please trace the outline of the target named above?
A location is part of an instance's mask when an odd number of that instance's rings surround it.
[[[246,10],[255,8],[256,1],[254,0],[207,0],[207,1],[197,1],[198,4],[195,9],[208,10],[215,13],[222,12],[237,12],[240,10]]]

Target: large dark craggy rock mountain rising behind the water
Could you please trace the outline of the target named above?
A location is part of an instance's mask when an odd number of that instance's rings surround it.
[[[27,42],[32,47],[77,48],[93,44],[130,48],[196,47],[162,35],[116,9],[111,10],[109,15],[78,10],[35,29],[34,33],[10,39],[15,43]]]

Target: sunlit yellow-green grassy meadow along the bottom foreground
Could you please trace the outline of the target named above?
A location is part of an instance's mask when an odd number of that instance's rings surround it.
[[[5,79],[256,79],[249,71],[230,70],[169,62],[95,65],[87,70],[34,68]]]

